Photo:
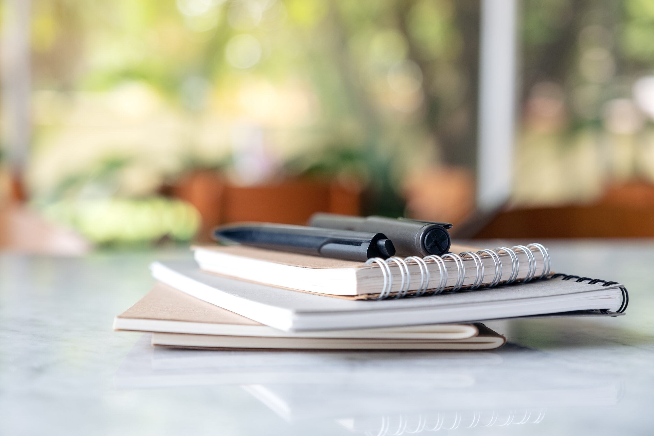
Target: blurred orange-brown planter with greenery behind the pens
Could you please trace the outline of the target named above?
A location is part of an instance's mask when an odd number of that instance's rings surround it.
[[[326,148],[315,156],[293,159],[264,180],[249,184],[239,178],[232,156],[215,167],[195,165],[164,192],[196,207],[202,219],[196,239],[209,241],[211,227],[228,222],[302,225],[314,212],[359,214],[366,177],[363,165],[362,156],[354,152]]]

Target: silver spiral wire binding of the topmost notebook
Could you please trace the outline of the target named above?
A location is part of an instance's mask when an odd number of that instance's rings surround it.
[[[411,273],[409,273],[409,263],[416,263],[420,269],[420,286],[415,292],[412,292],[411,295],[419,297],[421,295],[424,295],[424,293],[428,291],[432,293],[432,295],[436,295],[445,290],[445,288],[447,287],[447,278],[448,278],[447,263],[445,263],[446,258],[451,258],[456,265],[457,276],[456,276],[456,282],[454,286],[451,288],[452,292],[460,290],[464,285],[464,282],[466,280],[466,265],[464,263],[464,258],[466,257],[471,258],[474,261],[475,270],[476,270],[475,280],[473,281],[472,284],[466,286],[466,288],[470,290],[476,290],[483,285],[484,274],[485,274],[484,263],[483,263],[483,259],[481,258],[481,256],[483,255],[489,256],[495,266],[495,273],[493,275],[492,280],[490,280],[489,284],[484,286],[493,288],[494,286],[500,284],[500,282],[502,282],[502,259],[498,254],[498,252],[500,251],[507,252],[509,254],[509,258],[511,259],[511,273],[509,274],[508,279],[504,280],[504,283],[510,284],[515,282],[515,280],[519,275],[520,261],[518,259],[517,254],[515,253],[515,250],[519,250],[525,253],[525,256],[528,261],[528,268],[525,278],[523,278],[520,281],[529,282],[530,280],[534,279],[537,272],[536,258],[534,257],[534,252],[531,250],[532,247],[536,248],[543,256],[543,270],[541,271],[540,276],[538,278],[545,278],[549,275],[549,265],[550,265],[549,254],[547,253],[547,248],[545,248],[541,244],[535,244],[535,243],[528,244],[526,246],[516,245],[511,248],[499,247],[499,248],[495,248],[495,250],[479,250],[476,253],[471,251],[466,251],[460,254],[455,254],[450,252],[450,253],[443,254],[442,256],[436,256],[432,254],[430,256],[425,256],[422,259],[419,258],[418,256],[409,256],[408,258],[404,258],[404,259],[393,256],[386,260],[382,258],[370,258],[368,259],[368,261],[366,261],[364,265],[372,265],[373,263],[377,263],[381,268],[384,284],[381,288],[381,291],[379,292],[379,295],[373,298],[373,299],[381,300],[390,297],[390,294],[392,292],[393,275],[390,270],[390,264],[394,263],[398,265],[398,269],[400,271],[400,280],[401,280],[400,289],[394,295],[394,298],[402,298],[409,295],[409,288],[411,288]],[[436,263],[436,266],[438,266],[438,271],[439,271],[438,287],[432,289],[429,288],[430,272],[429,272],[428,263]]]

